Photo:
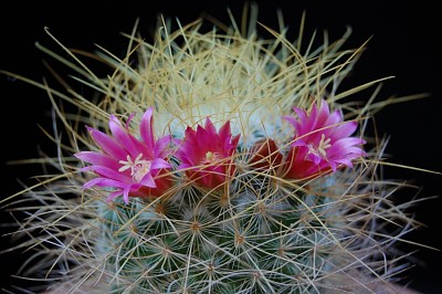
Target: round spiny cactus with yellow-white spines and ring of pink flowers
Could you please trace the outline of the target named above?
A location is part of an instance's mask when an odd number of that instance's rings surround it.
[[[386,181],[386,140],[367,133],[382,80],[341,82],[366,44],[348,30],[317,48],[264,27],[162,21],[151,43],[106,50],[97,76],[66,60],[98,95],[25,80],[50,94],[67,137],[56,172],[8,199],[28,217],[15,250],[57,293],[379,293],[412,263],[397,243],[419,227]],[[263,28],[261,28],[263,29]],[[135,30],[134,30],[135,31]],[[359,93],[360,101],[352,99]],[[365,93],[365,94],[364,94]],[[364,95],[362,95],[364,94]],[[76,107],[65,113],[62,98]],[[419,95],[415,95],[419,97]],[[86,127],[87,126],[87,127]]]

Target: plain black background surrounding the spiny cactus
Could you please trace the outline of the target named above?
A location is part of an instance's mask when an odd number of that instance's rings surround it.
[[[130,33],[136,18],[140,18],[139,31],[148,36],[155,27],[158,13],[178,17],[181,23],[196,20],[207,12],[229,23],[227,7],[230,7],[239,20],[243,3],[241,1],[134,1],[117,3],[109,1],[59,1],[49,4],[45,1],[24,3],[3,2],[0,8],[0,69],[41,81],[49,72],[42,64],[43,57],[34,43],[38,41],[51,49],[57,45],[46,35],[43,27],[49,27],[63,44],[71,48],[94,51],[94,43],[110,52],[123,55],[126,40],[120,32]],[[368,50],[358,61],[349,84],[358,85],[379,77],[394,75],[385,83],[379,97],[411,95],[429,92],[425,99],[385,108],[375,117],[381,134],[390,136],[387,153],[390,161],[442,171],[441,148],[441,15],[436,1],[398,2],[391,1],[269,1],[259,2],[259,20],[273,29],[276,25],[276,9],[281,8],[290,35],[295,36],[302,12],[307,12],[306,28],[311,35],[314,29],[319,32],[327,29],[330,40],[340,36],[346,25],[354,33],[345,48],[359,46],[372,38]],[[56,64],[51,60],[51,63]],[[38,124],[49,126],[50,103],[44,91],[23,82],[0,76],[1,109],[1,183],[0,197],[8,197],[22,187],[18,179],[27,182],[30,177],[40,175],[39,166],[11,166],[8,160],[33,158],[39,148],[53,151],[45,141]],[[386,178],[407,179],[422,187],[420,197],[440,195],[442,176],[388,168]],[[408,197],[409,191],[403,197]],[[399,197],[402,197],[399,193]],[[413,242],[422,242],[442,249],[441,199],[424,201],[413,208],[422,228],[408,235]],[[3,222],[11,221],[1,212]],[[6,229],[2,228],[2,233]],[[9,239],[0,237],[1,249],[9,246]],[[410,246],[418,250],[414,254],[423,264],[410,270],[411,287],[422,293],[442,293],[440,279],[442,270],[441,253],[429,249]],[[1,287],[8,288],[23,262],[24,253],[0,255]],[[17,281],[15,281],[17,282]],[[12,291],[13,292],[13,291]]]

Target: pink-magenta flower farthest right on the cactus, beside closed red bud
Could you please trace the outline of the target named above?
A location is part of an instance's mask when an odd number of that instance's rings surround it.
[[[355,133],[356,122],[344,122],[343,114],[330,114],[327,103],[313,105],[308,114],[293,107],[297,118],[284,118],[295,128],[295,137],[286,157],[284,178],[305,179],[328,171],[336,171],[341,166],[352,167],[351,160],[365,156],[360,145],[366,141],[349,137]]]

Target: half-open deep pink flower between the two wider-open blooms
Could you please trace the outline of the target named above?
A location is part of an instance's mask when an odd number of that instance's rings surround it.
[[[186,169],[190,180],[206,188],[215,188],[225,182],[234,172],[233,153],[240,135],[232,138],[230,122],[227,122],[217,134],[208,117],[204,127],[197,130],[186,129],[182,145],[176,156],[181,160],[179,169]]]

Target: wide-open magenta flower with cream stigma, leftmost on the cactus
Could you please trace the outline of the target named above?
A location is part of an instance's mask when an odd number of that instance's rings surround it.
[[[112,115],[109,129],[113,136],[88,127],[101,151],[75,154],[75,157],[92,164],[83,168],[83,171],[92,170],[98,175],[97,178],[87,181],[84,188],[93,186],[113,188],[107,200],[123,195],[125,203],[128,203],[129,197],[159,196],[170,187],[170,178],[162,177],[164,169],[171,168],[165,160],[170,136],[155,140],[152,113],[154,108],[150,107],[143,115],[139,125],[140,139],[129,132],[131,117],[126,126],[123,126],[117,117]]]

